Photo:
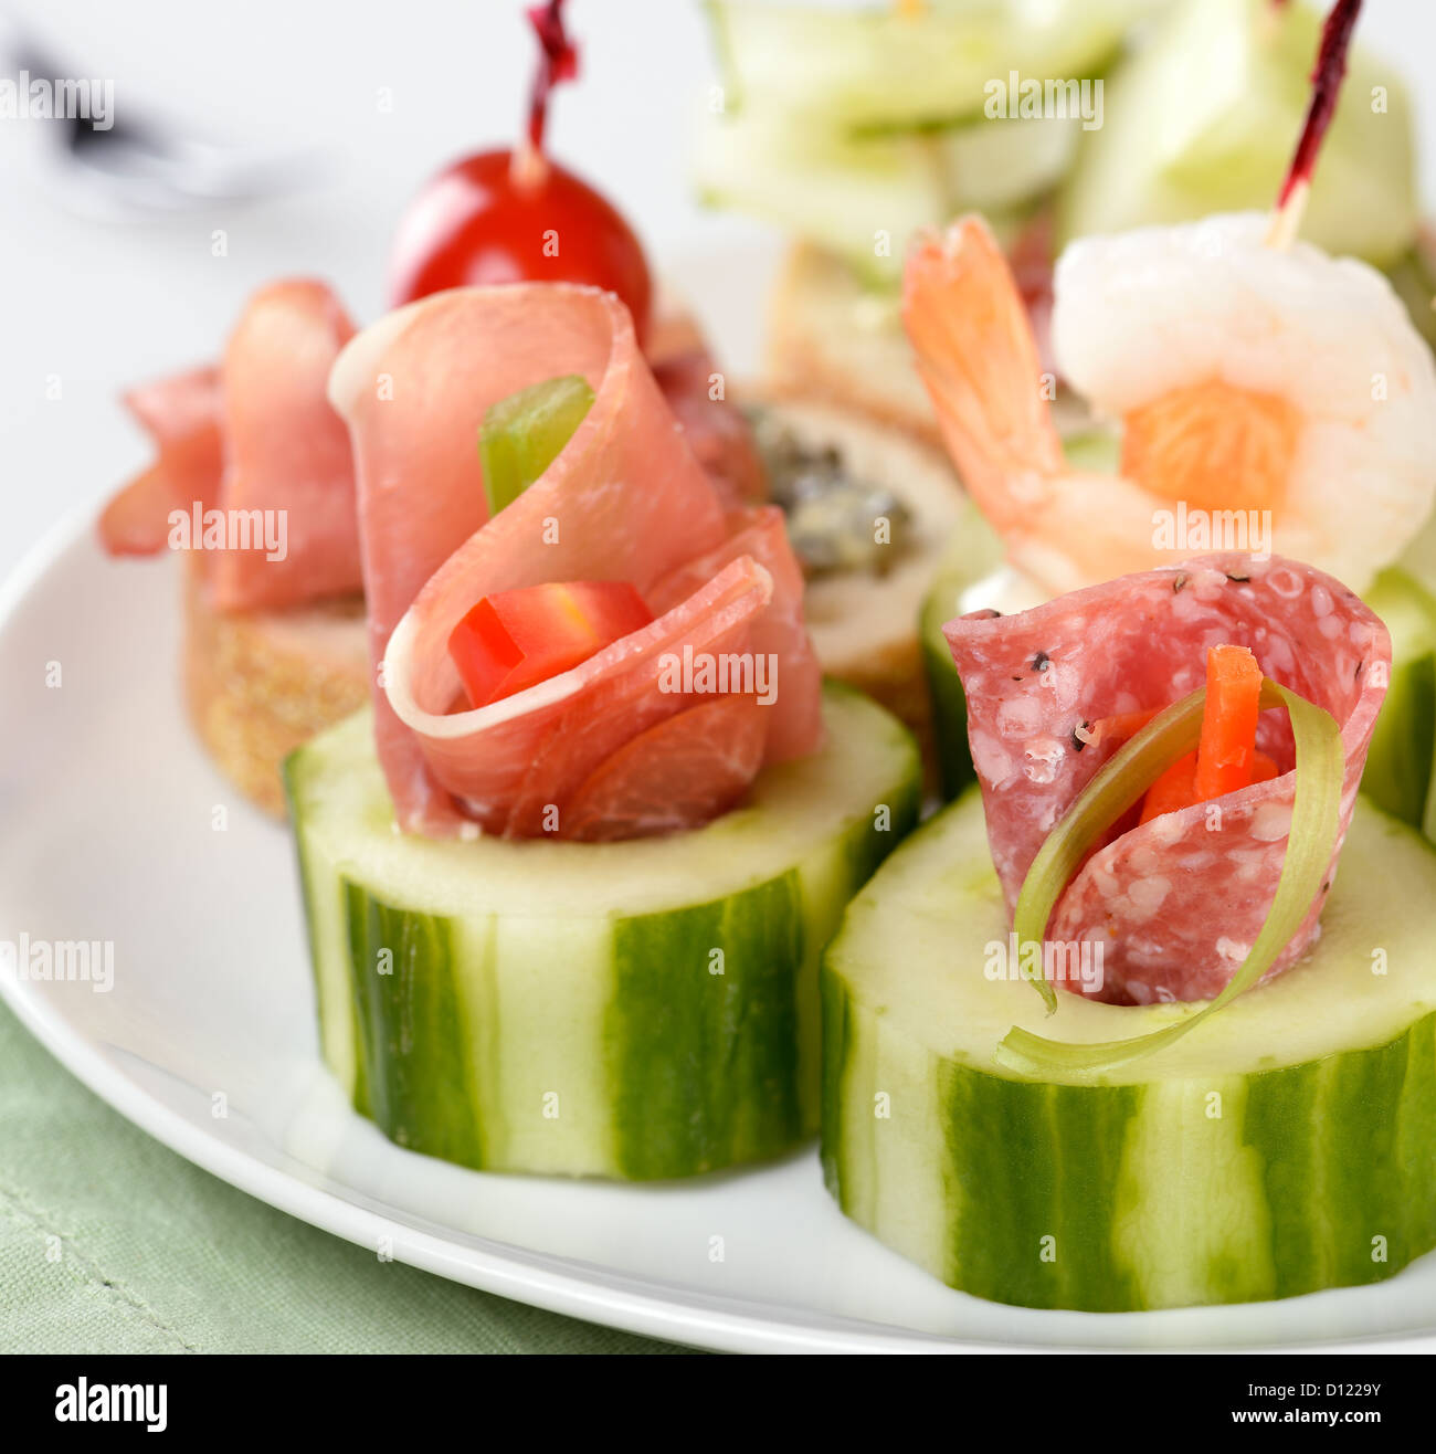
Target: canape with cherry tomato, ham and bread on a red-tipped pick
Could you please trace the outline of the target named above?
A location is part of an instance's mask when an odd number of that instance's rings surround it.
[[[455,163],[420,192],[398,228],[394,301],[522,279],[613,289],[699,461],[727,497],[759,496],[751,432],[712,388],[715,368],[692,320],[654,302],[632,230],[544,153],[548,96],[574,74],[576,55],[561,0],[532,20],[539,67],[525,135],[512,150]],[[186,553],[190,718],[219,769],[276,814],[285,755],[369,691],[353,462],[326,398],[330,366],[353,332],[323,282],[260,289],[217,366],[126,397],[157,459],[100,519],[112,554]]]

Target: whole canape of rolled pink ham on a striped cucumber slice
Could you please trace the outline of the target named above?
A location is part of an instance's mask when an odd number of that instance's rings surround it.
[[[610,292],[436,294],[330,393],[376,672],[286,769],[326,1061],[467,1166],[795,1146],[818,957],[920,772],[820,686],[782,512],[724,499]]]

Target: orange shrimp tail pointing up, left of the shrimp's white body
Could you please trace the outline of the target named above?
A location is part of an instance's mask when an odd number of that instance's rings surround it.
[[[964,484],[999,531],[1019,525],[1022,481],[1060,474],[1062,445],[1022,294],[981,217],[914,241],[903,323]]]

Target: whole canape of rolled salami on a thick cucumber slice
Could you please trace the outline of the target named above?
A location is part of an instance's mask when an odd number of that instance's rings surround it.
[[[946,634],[981,794],[827,955],[843,1210],[953,1287],[1092,1312],[1436,1246],[1436,853],[1358,801],[1381,621],[1224,554]]]

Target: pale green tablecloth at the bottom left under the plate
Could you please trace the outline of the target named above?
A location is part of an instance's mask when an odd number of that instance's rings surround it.
[[[0,1352],[674,1352],[446,1282],[235,1191],[0,1006]]]

